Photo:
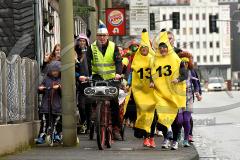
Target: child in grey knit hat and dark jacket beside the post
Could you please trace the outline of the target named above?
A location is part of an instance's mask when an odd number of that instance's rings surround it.
[[[39,93],[43,94],[42,103],[39,107],[39,119],[41,126],[37,144],[45,143],[48,128],[52,123],[54,128],[53,139],[57,142],[61,141],[61,85],[60,85],[60,61],[52,61],[47,68],[47,76],[42,84],[38,87]]]

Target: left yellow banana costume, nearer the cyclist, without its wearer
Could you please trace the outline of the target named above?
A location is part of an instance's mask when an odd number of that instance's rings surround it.
[[[141,48],[147,47],[148,54],[143,56]],[[132,62],[132,93],[137,108],[135,127],[150,132],[155,112],[153,89],[150,86],[150,61],[154,56],[147,31],[142,32],[141,43]]]

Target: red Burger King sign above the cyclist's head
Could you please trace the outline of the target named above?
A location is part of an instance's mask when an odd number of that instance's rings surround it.
[[[126,34],[125,9],[107,8],[106,24],[110,36],[124,36]]]

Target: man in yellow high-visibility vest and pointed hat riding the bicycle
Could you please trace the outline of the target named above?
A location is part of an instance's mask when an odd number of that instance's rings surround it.
[[[97,29],[97,40],[91,44],[87,53],[89,75],[94,80],[121,79],[122,57],[116,44],[109,40],[106,25],[100,21]],[[111,101],[113,137],[121,140],[119,104]]]

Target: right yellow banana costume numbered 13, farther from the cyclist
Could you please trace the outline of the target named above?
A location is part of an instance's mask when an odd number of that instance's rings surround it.
[[[166,56],[162,56],[158,49],[161,42],[168,46]],[[153,46],[155,56],[151,65],[158,122],[169,128],[177,115],[178,108],[186,106],[186,82],[172,83],[172,80],[179,77],[181,59],[170,45],[167,32],[160,32]]]

